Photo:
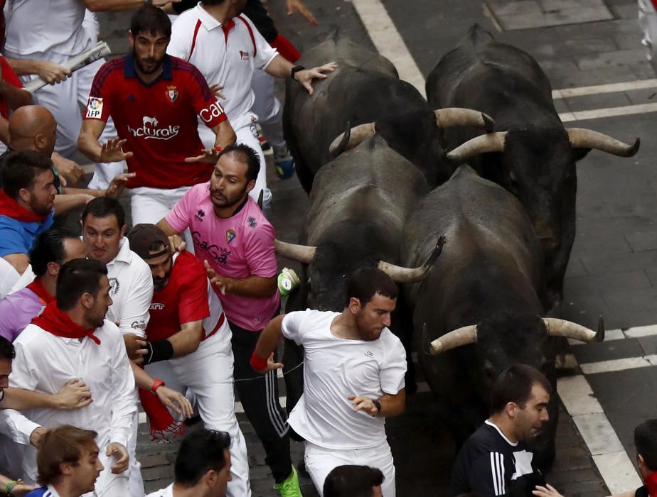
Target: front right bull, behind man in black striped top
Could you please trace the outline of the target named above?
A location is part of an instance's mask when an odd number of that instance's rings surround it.
[[[457,449],[488,417],[495,378],[528,364],[552,383],[550,420],[535,440],[543,467],[555,457],[559,408],[558,337],[604,339],[590,329],[545,318],[543,251],[523,206],[468,165],[421,200],[407,219],[402,262],[417,264],[435,240],[447,244],[429,276],[405,288],[413,324],[422,331],[420,368]]]

